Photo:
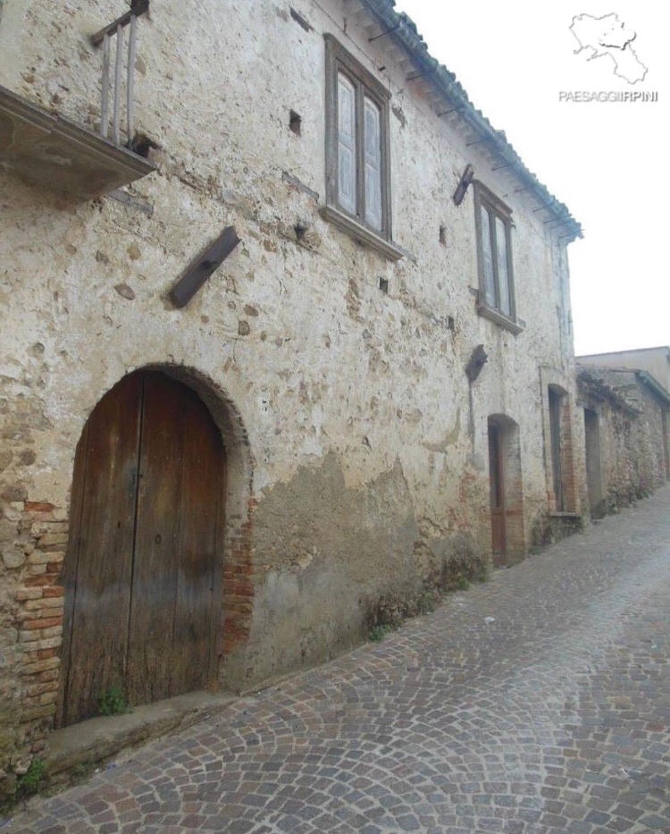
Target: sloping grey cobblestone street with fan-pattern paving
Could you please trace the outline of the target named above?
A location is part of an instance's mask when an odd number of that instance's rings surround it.
[[[670,487],[12,834],[670,832]]]

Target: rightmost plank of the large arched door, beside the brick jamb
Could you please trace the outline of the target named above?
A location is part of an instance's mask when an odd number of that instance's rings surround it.
[[[186,400],[186,397],[185,397]],[[185,420],[180,496],[177,595],[172,630],[171,694],[208,686],[213,677],[217,512],[225,500],[223,444],[209,411],[194,392]]]

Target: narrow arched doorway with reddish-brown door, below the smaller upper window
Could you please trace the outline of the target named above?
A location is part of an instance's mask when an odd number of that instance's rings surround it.
[[[493,560],[510,565],[525,553],[519,425],[505,414],[491,414],[488,431]]]

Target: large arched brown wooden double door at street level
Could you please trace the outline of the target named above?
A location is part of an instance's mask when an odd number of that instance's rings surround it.
[[[97,404],[74,467],[60,726],[112,687],[140,704],[212,681],[225,493],[221,435],[186,385],[140,371]]]

